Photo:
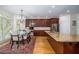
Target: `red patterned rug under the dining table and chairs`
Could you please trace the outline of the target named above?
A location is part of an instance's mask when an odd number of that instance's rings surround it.
[[[20,44],[17,48],[17,44],[14,44],[11,49],[11,44],[8,43],[5,46],[0,47],[0,54],[32,54],[35,45],[35,37],[31,39],[29,44],[25,41],[25,44]]]

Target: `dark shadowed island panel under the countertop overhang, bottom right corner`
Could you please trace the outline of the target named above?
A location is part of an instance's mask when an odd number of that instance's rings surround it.
[[[65,42],[64,53],[65,54],[79,54],[79,43],[78,42]]]

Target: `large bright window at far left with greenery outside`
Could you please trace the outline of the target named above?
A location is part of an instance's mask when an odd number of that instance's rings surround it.
[[[10,17],[0,16],[0,41],[10,37]]]

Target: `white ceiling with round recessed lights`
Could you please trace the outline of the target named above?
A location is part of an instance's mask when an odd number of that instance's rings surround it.
[[[13,14],[20,14],[31,18],[56,18],[61,14],[79,13],[78,5],[1,5],[0,8]]]

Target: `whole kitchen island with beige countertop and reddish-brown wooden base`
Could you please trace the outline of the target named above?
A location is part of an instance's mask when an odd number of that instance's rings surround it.
[[[79,36],[59,35],[58,32],[45,31],[48,41],[58,54],[79,53]]]

